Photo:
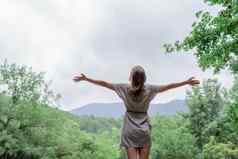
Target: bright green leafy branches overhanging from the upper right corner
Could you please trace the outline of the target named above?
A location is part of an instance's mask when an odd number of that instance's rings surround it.
[[[218,72],[228,67],[238,73],[238,0],[204,1],[221,6],[219,12],[197,12],[190,34],[174,45],[165,44],[166,51],[194,50],[203,70],[213,68]]]

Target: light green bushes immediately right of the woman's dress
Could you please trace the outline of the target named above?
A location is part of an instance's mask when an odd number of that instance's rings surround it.
[[[153,119],[152,159],[197,158],[195,138],[186,128],[187,120],[181,116],[159,116]]]

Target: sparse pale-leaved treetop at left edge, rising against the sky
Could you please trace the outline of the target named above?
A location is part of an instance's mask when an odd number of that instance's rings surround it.
[[[12,99],[12,106],[19,100],[53,104],[60,98],[49,89],[44,73],[35,73],[31,67],[9,64],[7,60],[0,65],[0,84],[6,85],[6,95]]]

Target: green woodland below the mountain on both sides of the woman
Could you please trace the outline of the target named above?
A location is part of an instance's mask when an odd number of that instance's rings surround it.
[[[122,119],[75,117],[60,111],[50,104],[53,96],[42,91],[43,76],[26,66],[4,65],[0,77],[7,90],[0,93],[0,158],[126,158],[119,149]],[[32,89],[24,92],[27,84]],[[221,90],[217,80],[204,81],[187,92],[189,113],[152,118],[151,158],[236,159],[237,78],[230,90]],[[44,98],[50,100],[43,102]]]

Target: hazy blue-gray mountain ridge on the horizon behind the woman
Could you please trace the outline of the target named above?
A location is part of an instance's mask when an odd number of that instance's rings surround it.
[[[121,117],[125,112],[123,103],[91,103],[80,108],[73,109],[75,115],[94,115],[98,117]],[[149,115],[157,113],[161,115],[174,115],[176,112],[188,112],[185,100],[173,100],[168,103],[151,104]]]

